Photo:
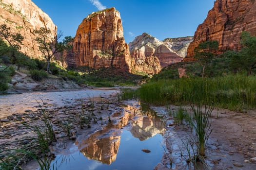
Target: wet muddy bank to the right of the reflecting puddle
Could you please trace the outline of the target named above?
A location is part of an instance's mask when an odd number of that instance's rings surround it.
[[[174,123],[174,119],[167,116],[165,107],[153,108],[162,113],[166,120],[165,140],[168,148],[168,153],[165,153],[155,170],[170,169],[171,153],[173,169],[193,169],[193,165],[186,162],[189,154],[185,145],[187,141],[193,141],[191,136],[195,136],[195,132],[186,123]],[[177,110],[177,106],[170,105],[169,108]],[[192,113],[190,107],[185,108]],[[198,163],[197,169],[256,170],[256,111],[238,113],[214,109],[211,128],[213,131],[208,140],[205,163]],[[191,148],[190,152],[193,155]]]

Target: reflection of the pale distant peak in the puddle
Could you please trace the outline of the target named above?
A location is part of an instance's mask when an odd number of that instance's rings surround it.
[[[157,134],[164,134],[165,125],[160,119],[149,118],[147,116],[140,117],[133,123],[131,133],[140,141],[146,140]]]

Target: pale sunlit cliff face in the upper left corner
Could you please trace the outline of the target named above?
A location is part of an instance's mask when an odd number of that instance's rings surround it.
[[[57,32],[52,19],[31,0],[0,0],[0,24],[6,24],[11,32],[24,36],[20,51],[33,58],[42,55],[33,31],[40,27],[49,28],[52,38]]]

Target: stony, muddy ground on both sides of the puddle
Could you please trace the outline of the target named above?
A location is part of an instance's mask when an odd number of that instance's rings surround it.
[[[92,103],[93,101],[93,103]],[[46,104],[46,103],[45,103]],[[92,108],[93,105],[93,108]],[[84,127],[79,130],[77,119],[78,113],[82,107],[86,108],[86,112],[92,112],[95,115],[94,123],[91,128]],[[64,101],[64,106],[50,107],[51,122],[55,127],[57,143],[53,149],[54,153],[59,153],[63,148],[72,145],[77,136],[87,134],[90,136],[99,130],[107,128],[109,120],[116,124],[113,128],[123,128],[127,125],[127,114],[122,112],[125,106],[117,93],[112,95],[102,95],[94,98],[77,99],[74,101]],[[161,162],[156,165],[155,170],[170,169],[170,155],[173,161],[172,168],[175,170],[192,169],[186,163],[186,147],[185,142],[189,138],[190,128],[187,125],[177,125],[174,123],[173,117],[168,115],[165,107],[151,107],[158,115],[163,117],[165,125],[164,140],[166,143],[165,154],[162,156]],[[169,106],[172,110],[176,110],[177,106]],[[188,111],[190,107],[186,107]],[[129,114],[137,113],[133,111]],[[126,115],[126,116],[125,116]],[[31,129],[23,126],[21,121],[35,123],[41,119],[40,108],[36,111],[26,110],[25,113],[17,113],[2,118],[0,122],[0,156],[6,155],[2,152],[6,149],[16,149],[22,146],[30,147],[35,142],[35,134]],[[101,120],[99,118],[102,118]],[[130,116],[129,116],[130,117]],[[63,127],[63,121],[70,120],[72,129],[70,135]],[[118,123],[119,122],[119,123]],[[126,122],[126,123],[125,123]],[[213,132],[209,138],[206,150],[205,167],[202,168],[200,163],[197,164],[198,169],[212,170],[255,170],[256,169],[256,111],[250,110],[246,113],[234,112],[226,109],[214,109],[212,112],[212,128]],[[183,143],[183,142],[184,143]],[[183,155],[181,156],[182,153]],[[168,156],[169,155],[169,156]],[[193,163],[191,163],[193,164]],[[190,165],[191,165],[190,164]],[[207,165],[207,166],[206,166]],[[24,170],[33,170],[31,164],[25,166]]]

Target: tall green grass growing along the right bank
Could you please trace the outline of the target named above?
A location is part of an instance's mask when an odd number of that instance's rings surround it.
[[[256,77],[229,75],[160,80],[142,85],[138,94],[142,101],[155,105],[200,102],[242,111],[256,106]]]

